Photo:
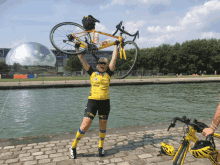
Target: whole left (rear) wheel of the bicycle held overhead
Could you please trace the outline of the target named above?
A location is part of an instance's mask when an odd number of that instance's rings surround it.
[[[75,51],[75,43],[78,42],[71,34],[74,34],[81,42],[86,44],[86,40],[88,43],[91,43],[91,36],[89,33],[84,32],[85,29],[83,26],[74,23],[74,22],[62,22],[54,26],[50,32],[50,42],[62,53],[68,55],[77,55],[84,53],[86,51],[86,47],[79,48],[79,52]],[[82,33],[81,33],[82,32]],[[80,34],[78,34],[80,33]],[[86,44],[87,45],[87,44]]]

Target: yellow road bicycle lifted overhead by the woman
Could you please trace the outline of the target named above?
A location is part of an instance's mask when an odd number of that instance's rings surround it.
[[[95,22],[100,22],[95,18],[93,19]],[[117,74],[114,74],[114,77],[117,79],[123,79],[131,73],[137,62],[139,49],[134,41],[136,37],[139,38],[139,31],[137,31],[135,34],[130,34],[124,30],[124,26],[122,27],[122,23],[123,21],[121,21],[116,26],[116,31],[111,35],[108,33],[96,31],[95,29],[85,31],[83,26],[74,22],[62,22],[52,28],[50,32],[50,41],[54,48],[62,53],[65,53],[67,55],[78,55],[85,53],[92,54],[96,62],[98,62],[98,57],[95,54],[97,54],[99,50],[113,46],[115,44],[115,41],[98,47],[94,44],[94,40],[91,39],[90,33],[92,33],[92,36],[94,36],[94,33],[99,33],[101,35],[109,36],[118,40],[120,42],[120,58],[118,57],[116,62],[114,72]],[[118,31],[120,31],[120,36],[115,36]],[[130,40],[125,42],[122,34],[134,36],[133,41]],[[63,37],[63,39],[61,39],[61,37]],[[72,49],[76,43],[80,43],[79,52],[76,52]]]

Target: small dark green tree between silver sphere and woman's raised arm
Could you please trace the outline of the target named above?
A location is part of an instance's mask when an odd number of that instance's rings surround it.
[[[66,66],[64,67],[64,69],[66,71],[71,72],[71,76],[72,76],[74,71],[82,70],[82,64],[77,56],[74,57],[72,56],[66,62]]]

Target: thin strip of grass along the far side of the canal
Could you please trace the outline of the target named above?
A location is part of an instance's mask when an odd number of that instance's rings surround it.
[[[205,76],[160,76],[150,78],[198,78],[198,77],[220,77],[220,75],[205,75]],[[115,79],[112,77],[112,79]],[[149,79],[149,77],[126,77],[125,79]],[[89,77],[38,77],[33,79],[20,79],[20,82],[24,81],[65,81],[65,80],[89,80]],[[19,79],[0,79],[0,82],[19,82]]]

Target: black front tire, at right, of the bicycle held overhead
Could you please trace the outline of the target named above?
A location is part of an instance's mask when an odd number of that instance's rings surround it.
[[[125,78],[125,77],[127,77],[130,73],[131,73],[131,71],[133,70],[133,68],[135,67],[135,64],[136,64],[136,62],[137,62],[137,59],[138,59],[138,52],[139,52],[139,49],[138,49],[138,46],[137,46],[137,44],[134,42],[134,41],[126,41],[125,43],[124,43],[124,47],[126,46],[126,45],[128,45],[128,44],[131,44],[134,48],[133,49],[135,49],[134,50],[134,55],[132,55],[132,57],[134,58],[133,60],[134,61],[132,61],[132,65],[131,65],[131,67],[129,68],[129,70],[127,70],[125,73],[123,73],[123,74],[120,74],[120,75],[115,75],[114,74],[114,77],[116,78],[116,79],[123,79],[123,78]],[[119,52],[118,52],[119,53]],[[126,53],[126,56],[127,56],[127,53]],[[129,58],[129,57],[127,57],[127,58]],[[116,65],[117,65],[117,63],[121,66],[121,60],[123,60],[123,59],[120,59],[119,58],[119,55],[118,55],[118,58],[117,58],[117,62],[116,62]],[[125,60],[124,60],[125,61]],[[127,60],[128,62],[129,62],[129,60]],[[131,60],[130,60],[131,61]],[[117,69],[115,69],[115,71],[114,72],[117,72]],[[120,73],[120,71],[118,71],[118,73]]]

